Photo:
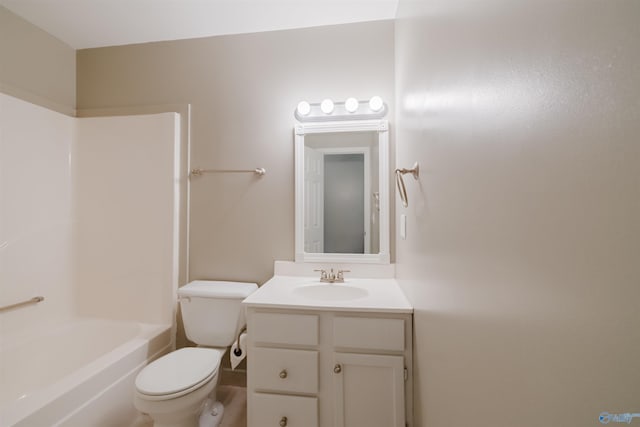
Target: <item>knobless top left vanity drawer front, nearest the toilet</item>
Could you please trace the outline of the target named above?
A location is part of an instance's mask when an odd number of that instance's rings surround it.
[[[254,343],[318,345],[317,315],[254,313],[249,322]]]

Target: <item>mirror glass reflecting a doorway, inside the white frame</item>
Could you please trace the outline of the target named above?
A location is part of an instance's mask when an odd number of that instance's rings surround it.
[[[378,253],[378,152],[375,132],[306,136],[305,252]]]

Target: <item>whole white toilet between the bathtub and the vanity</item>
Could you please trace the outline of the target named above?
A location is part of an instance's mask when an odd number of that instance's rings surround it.
[[[245,325],[240,303],[256,289],[255,283],[211,281],[178,289],[185,332],[198,347],[162,356],[136,377],[134,405],[153,419],[154,427],[197,427],[205,406],[211,413],[203,418],[210,421],[202,424],[219,423],[223,408],[215,402],[215,388],[220,361]]]

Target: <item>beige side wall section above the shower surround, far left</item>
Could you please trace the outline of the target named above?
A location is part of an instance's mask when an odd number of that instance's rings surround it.
[[[75,50],[2,6],[0,92],[75,113]]]

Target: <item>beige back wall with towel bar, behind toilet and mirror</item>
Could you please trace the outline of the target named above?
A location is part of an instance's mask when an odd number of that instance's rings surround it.
[[[294,256],[293,110],[380,94],[393,114],[393,22],[78,51],[78,109],[190,103],[191,166],[264,167],[191,185],[190,278],[262,283]]]

